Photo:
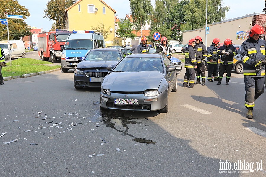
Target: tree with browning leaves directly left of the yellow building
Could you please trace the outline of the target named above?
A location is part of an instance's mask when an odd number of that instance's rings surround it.
[[[76,0],[50,0],[47,2],[47,9],[44,9],[44,18],[49,18],[55,22],[56,29],[64,28],[65,9],[72,6]],[[53,28],[53,27],[52,27]]]

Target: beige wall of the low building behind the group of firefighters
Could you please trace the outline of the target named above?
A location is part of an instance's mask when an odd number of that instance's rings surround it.
[[[223,22],[217,22],[207,25],[210,28],[209,34],[207,34],[207,45],[205,44],[205,27],[196,30],[183,31],[183,44],[196,36],[202,38],[202,42],[209,47],[212,44],[214,38],[219,38],[221,43],[225,39],[229,38],[234,44],[242,44],[245,40],[236,40],[236,32],[249,31],[252,27],[252,16],[247,15],[235,19],[226,20]],[[240,28],[239,28],[240,26]]]

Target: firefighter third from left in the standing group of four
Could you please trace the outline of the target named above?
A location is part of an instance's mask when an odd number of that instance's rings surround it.
[[[218,60],[220,59],[217,52],[219,49],[217,48],[220,44],[220,40],[218,38],[213,39],[212,45],[207,49],[207,57],[208,57],[208,81],[213,82],[218,81],[219,76],[219,68],[218,68]]]

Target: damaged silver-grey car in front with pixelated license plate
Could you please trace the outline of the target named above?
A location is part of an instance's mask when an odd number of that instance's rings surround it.
[[[176,68],[164,54],[127,55],[101,84],[101,109],[168,112],[170,92],[177,90]]]

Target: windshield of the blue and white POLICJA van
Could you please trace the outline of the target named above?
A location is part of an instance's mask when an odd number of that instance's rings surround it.
[[[71,39],[67,40],[65,50],[92,49],[93,40],[91,39]]]

